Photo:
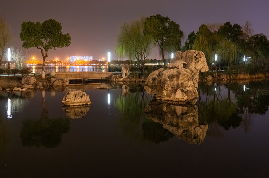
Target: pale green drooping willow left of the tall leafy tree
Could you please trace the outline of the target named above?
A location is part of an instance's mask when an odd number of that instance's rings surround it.
[[[138,67],[141,64],[144,71],[145,59],[148,56],[152,36],[143,33],[144,19],[135,20],[130,23],[124,23],[118,37],[116,53],[121,58],[129,57],[129,60],[137,60]]]

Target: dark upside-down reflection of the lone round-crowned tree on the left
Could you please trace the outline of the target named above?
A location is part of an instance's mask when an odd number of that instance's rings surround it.
[[[40,119],[23,121],[21,140],[23,146],[55,148],[60,145],[62,134],[70,130],[70,121],[65,118],[49,119],[45,108],[45,91],[42,91],[42,113]]]

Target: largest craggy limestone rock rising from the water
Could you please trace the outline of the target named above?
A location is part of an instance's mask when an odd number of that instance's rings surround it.
[[[178,51],[168,69],[160,68],[149,74],[144,89],[158,100],[194,103],[200,71],[208,71],[203,52]]]

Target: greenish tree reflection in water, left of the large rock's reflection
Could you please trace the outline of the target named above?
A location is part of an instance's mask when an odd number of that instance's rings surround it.
[[[173,134],[164,129],[161,124],[146,118],[144,109],[147,104],[148,98],[143,91],[143,86],[125,85],[122,87],[122,95],[115,101],[115,106],[121,111],[118,120],[121,133],[127,138],[142,142],[160,143],[167,141],[173,137]]]

